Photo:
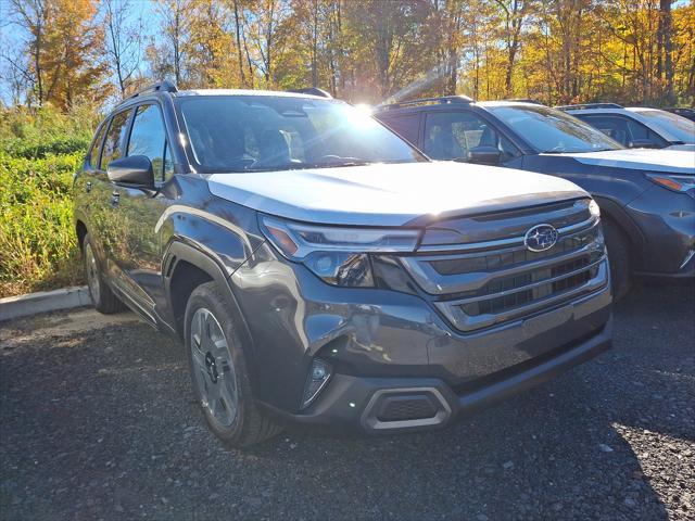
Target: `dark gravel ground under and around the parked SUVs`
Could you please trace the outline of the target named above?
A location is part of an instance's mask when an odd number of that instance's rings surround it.
[[[0,517],[695,519],[695,289],[637,288],[615,347],[451,429],[220,447],[182,348],[129,314],[0,325]]]

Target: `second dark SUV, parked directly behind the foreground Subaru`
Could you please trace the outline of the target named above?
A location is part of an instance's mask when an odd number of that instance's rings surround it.
[[[376,117],[434,160],[552,174],[587,190],[604,215],[615,293],[631,276],[695,276],[695,154],[623,150],[538,103],[447,97],[378,107]]]

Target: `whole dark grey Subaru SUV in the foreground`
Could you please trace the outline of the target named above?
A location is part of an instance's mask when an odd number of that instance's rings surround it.
[[[181,339],[232,446],[443,427],[610,344],[584,190],[431,162],[341,101],[160,84],[100,125],[74,200],[97,309]]]

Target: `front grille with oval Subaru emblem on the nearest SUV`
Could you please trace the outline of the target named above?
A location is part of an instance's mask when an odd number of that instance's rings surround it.
[[[497,219],[488,215],[484,221],[495,230],[495,239],[426,244],[418,255],[401,260],[418,285],[432,295],[433,305],[460,331],[530,316],[580,298],[608,282],[601,224],[587,206],[587,201],[577,201],[535,208],[532,214],[507,212]],[[447,227],[451,224],[439,226]],[[547,234],[548,242],[540,244],[545,249],[529,243],[528,231],[534,227]],[[506,230],[505,237],[500,237],[500,230]],[[447,234],[452,232],[447,230]]]

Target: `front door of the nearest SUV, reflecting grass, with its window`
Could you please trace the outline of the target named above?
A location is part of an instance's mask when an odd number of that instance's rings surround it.
[[[135,109],[124,149],[124,156],[149,157],[155,189],[114,185],[113,219],[123,233],[123,247],[114,252],[114,258],[131,303],[156,321],[156,304],[163,298],[162,244],[156,223],[170,203],[161,188],[173,177],[157,103],[143,103]]]

